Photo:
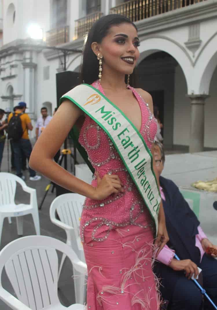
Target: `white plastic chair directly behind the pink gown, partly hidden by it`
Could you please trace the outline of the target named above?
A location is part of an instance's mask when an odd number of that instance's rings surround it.
[[[82,195],[67,193],[56,197],[50,206],[50,219],[52,223],[66,231],[66,244],[75,251],[82,262],[85,262],[85,258],[79,234],[79,226],[84,199],[85,197]],[[56,219],[55,211],[57,211],[60,220]],[[63,254],[59,275],[65,258],[66,255]],[[81,290],[80,288],[85,288],[85,276],[77,274],[75,270],[73,270],[73,272],[74,275],[76,275],[74,277],[76,303],[84,303],[86,297],[85,290]]]

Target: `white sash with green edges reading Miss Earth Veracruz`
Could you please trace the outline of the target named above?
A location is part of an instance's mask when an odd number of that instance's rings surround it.
[[[109,136],[158,227],[160,192],[152,155],[142,135],[124,113],[100,91],[88,84],[76,86],[61,97],[69,99]]]

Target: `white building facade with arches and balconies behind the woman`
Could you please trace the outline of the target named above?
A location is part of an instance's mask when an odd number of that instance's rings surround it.
[[[33,121],[44,105],[52,113],[64,60],[46,46],[82,49],[86,30],[110,13],[138,27],[140,85],[159,107],[166,148],[216,149],[217,0],[4,0],[2,108],[25,100]],[[29,38],[31,24],[42,30],[43,40]],[[79,71],[81,53],[66,60],[67,70]]]

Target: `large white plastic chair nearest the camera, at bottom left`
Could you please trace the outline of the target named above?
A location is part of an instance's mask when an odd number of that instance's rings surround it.
[[[22,237],[0,252],[0,299],[14,310],[84,310],[84,305],[66,308],[59,301],[57,250],[69,257],[77,271],[86,274],[86,264],[64,242],[47,236]],[[4,267],[18,299],[2,287]]]

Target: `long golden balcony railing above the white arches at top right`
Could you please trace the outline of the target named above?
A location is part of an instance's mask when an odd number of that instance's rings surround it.
[[[187,7],[205,0],[130,0],[110,9],[110,14],[120,14],[132,22]]]

